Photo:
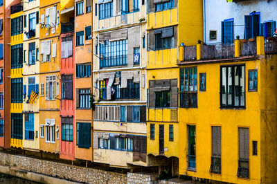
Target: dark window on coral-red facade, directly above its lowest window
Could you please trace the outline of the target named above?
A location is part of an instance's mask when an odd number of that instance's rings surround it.
[[[62,99],[73,99],[73,75],[62,75]]]

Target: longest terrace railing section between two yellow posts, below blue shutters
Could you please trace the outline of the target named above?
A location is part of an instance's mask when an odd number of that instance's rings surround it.
[[[201,59],[226,59],[235,56],[233,44],[215,44],[201,46]]]

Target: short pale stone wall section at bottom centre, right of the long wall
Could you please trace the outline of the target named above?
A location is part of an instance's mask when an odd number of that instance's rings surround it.
[[[155,175],[128,172],[127,184],[132,184],[132,183],[156,184],[158,183],[158,181],[157,181],[157,176]]]

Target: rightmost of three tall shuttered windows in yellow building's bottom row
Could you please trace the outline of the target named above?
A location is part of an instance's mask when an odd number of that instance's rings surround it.
[[[239,128],[239,160],[238,173],[240,178],[249,178],[249,129]]]

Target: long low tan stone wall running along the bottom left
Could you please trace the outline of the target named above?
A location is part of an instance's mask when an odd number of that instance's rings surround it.
[[[29,158],[27,156],[5,154],[3,152],[0,152],[0,165],[8,165],[30,172],[85,183],[127,183],[127,174],[66,165],[48,160]]]

